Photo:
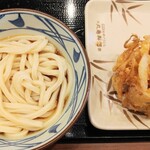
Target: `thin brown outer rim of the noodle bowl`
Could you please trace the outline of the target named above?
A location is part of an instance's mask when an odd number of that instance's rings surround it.
[[[56,17],[39,11],[39,10],[34,10],[34,9],[28,9],[28,8],[9,8],[9,9],[1,9],[0,10],[0,14],[1,13],[5,13],[5,12],[31,12],[31,13],[36,13],[36,14],[40,14],[43,16],[46,16],[48,18],[51,18],[53,20],[55,20],[56,22],[58,22],[59,24],[61,24],[66,30],[68,30],[68,32],[76,39],[76,41],[78,42],[78,44],[80,45],[82,52],[84,54],[85,57],[85,61],[87,64],[87,73],[88,73],[88,82],[87,82],[87,88],[86,88],[86,93],[84,96],[84,100],[81,106],[81,109],[77,112],[76,116],[74,117],[73,121],[71,121],[69,123],[69,125],[67,126],[67,128],[65,128],[60,134],[58,134],[58,136],[56,136],[54,139],[52,139],[51,141],[48,141],[46,143],[44,143],[43,145],[40,145],[39,147],[36,147],[36,149],[42,149],[42,148],[46,148],[47,146],[53,145],[55,142],[57,142],[61,137],[63,137],[65,135],[65,133],[74,125],[74,123],[77,121],[77,119],[79,118],[80,114],[82,113],[87,100],[88,100],[88,96],[89,96],[89,92],[90,92],[90,85],[91,85],[91,69],[90,69],[90,62],[89,62],[89,58],[88,58],[88,54],[86,52],[85,47],[83,46],[82,42],[80,41],[80,39],[77,37],[77,35],[66,25],[64,24],[62,21],[60,21],[59,19],[57,19]]]

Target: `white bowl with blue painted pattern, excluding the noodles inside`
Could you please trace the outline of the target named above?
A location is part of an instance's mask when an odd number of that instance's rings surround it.
[[[19,140],[0,139],[0,149],[38,149],[56,142],[75,123],[87,100],[90,66],[87,54],[76,35],[56,18],[30,9],[0,11],[0,38],[15,34],[44,34],[66,57],[73,67],[73,94],[62,115],[49,128]]]

